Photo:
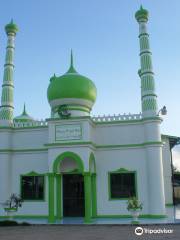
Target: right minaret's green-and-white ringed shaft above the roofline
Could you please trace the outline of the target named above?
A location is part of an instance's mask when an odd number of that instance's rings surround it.
[[[143,117],[157,115],[157,95],[155,93],[154,73],[152,68],[151,51],[149,46],[149,34],[147,33],[148,11],[141,6],[135,14],[139,23],[140,61],[141,69],[141,102]]]

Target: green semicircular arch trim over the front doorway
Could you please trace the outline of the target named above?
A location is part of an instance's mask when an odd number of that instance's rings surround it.
[[[59,172],[59,166],[61,164],[61,161],[64,160],[64,158],[66,157],[70,157],[72,159],[74,159],[78,165],[78,170],[80,172],[84,172],[84,165],[83,165],[83,161],[82,159],[79,157],[79,155],[77,155],[74,152],[63,152],[62,154],[60,154],[54,161],[53,163],[53,172],[54,173],[58,173]]]

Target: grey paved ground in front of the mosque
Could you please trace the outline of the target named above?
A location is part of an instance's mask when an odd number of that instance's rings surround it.
[[[0,240],[134,240],[134,239],[180,239],[180,225],[141,225],[146,229],[173,230],[166,234],[142,234],[137,236],[137,226],[122,225],[34,225],[0,227]]]

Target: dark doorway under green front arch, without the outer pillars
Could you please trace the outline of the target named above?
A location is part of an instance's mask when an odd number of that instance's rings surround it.
[[[81,158],[73,152],[58,156],[53,164],[56,174],[56,215],[84,217],[84,166]]]

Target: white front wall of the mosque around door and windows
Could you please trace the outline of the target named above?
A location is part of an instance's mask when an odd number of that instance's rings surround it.
[[[90,117],[80,117],[49,120],[48,125],[39,127],[1,128],[0,202],[7,200],[11,193],[21,193],[21,175],[30,172],[44,174],[44,201],[24,201],[17,215],[48,216],[47,173],[53,172],[54,161],[64,152],[73,152],[82,159],[84,172],[89,172],[89,158],[93,153],[96,164],[97,216],[121,217],[129,214],[127,200],[109,198],[108,185],[109,172],[126,169],[137,174],[137,196],[143,203],[142,215],[162,217],[166,214],[165,203],[172,204],[171,156],[168,138],[158,139],[158,142],[157,134],[153,137],[154,123],[157,120],[148,120],[148,123],[142,119],[97,122]],[[152,126],[149,134],[147,124]],[[68,136],[68,140],[56,141],[57,126],[65,129],[81,126],[82,135],[76,140]],[[159,168],[163,172],[163,188],[161,182],[157,185],[157,178],[154,177],[154,174],[160,174]],[[65,164],[64,172],[66,170],[73,169]],[[162,193],[160,202],[156,198],[158,191]],[[2,207],[0,214],[5,215]]]

